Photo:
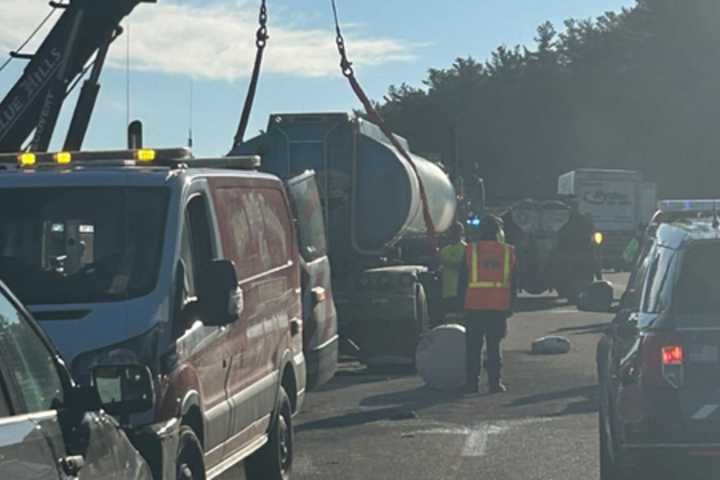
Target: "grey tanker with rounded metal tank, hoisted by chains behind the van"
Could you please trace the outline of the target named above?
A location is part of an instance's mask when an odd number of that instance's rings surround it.
[[[376,125],[345,113],[272,115],[236,150],[260,155],[262,169],[281,178],[317,172],[340,335],[365,363],[411,362],[437,291],[420,180],[443,233],[457,206],[445,172],[416,155],[413,169]]]

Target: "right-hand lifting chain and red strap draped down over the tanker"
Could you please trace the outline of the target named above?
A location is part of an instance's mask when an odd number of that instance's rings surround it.
[[[363,104],[367,116],[373,123],[380,127],[380,130],[382,130],[383,134],[387,137],[390,143],[392,143],[393,147],[395,147],[395,149],[400,153],[400,155],[402,155],[402,157],[410,164],[413,172],[415,172],[415,176],[418,180],[418,187],[420,190],[420,200],[422,201],[423,220],[425,221],[425,228],[430,235],[430,240],[433,243],[433,248],[437,248],[437,231],[435,230],[435,224],[433,222],[432,215],[430,214],[430,204],[428,202],[425,184],[422,180],[422,177],[420,176],[420,171],[418,170],[417,164],[415,163],[415,160],[413,160],[412,155],[410,155],[410,153],[405,149],[402,143],[397,139],[395,134],[390,131],[387,124],[385,123],[385,120],[383,120],[383,118],[380,116],[380,113],[377,111],[368,96],[365,94],[365,91],[363,90],[360,82],[355,76],[355,70],[353,69],[352,62],[348,59],[345,37],[343,36],[342,29],[340,28],[340,18],[338,16],[337,5],[335,4],[335,0],[330,0],[330,2],[332,3],[333,16],[335,18],[335,31],[337,33],[337,38],[335,42],[337,43],[338,52],[340,53],[340,68],[342,69],[343,76],[347,78],[350,82],[350,86],[352,87],[353,92],[355,92],[358,100],[360,100],[360,103]]]

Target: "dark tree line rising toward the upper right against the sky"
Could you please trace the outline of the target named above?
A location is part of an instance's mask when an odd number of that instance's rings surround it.
[[[548,197],[561,173],[627,168],[664,197],[720,196],[720,2],[637,0],[537,29],[531,47],[391,86],[389,125],[490,199]]]

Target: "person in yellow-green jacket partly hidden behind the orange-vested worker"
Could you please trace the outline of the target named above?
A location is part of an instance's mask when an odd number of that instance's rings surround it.
[[[460,267],[465,262],[465,228],[457,222],[450,228],[450,243],[440,250],[442,264],[443,314],[462,313],[464,301],[460,297]]]

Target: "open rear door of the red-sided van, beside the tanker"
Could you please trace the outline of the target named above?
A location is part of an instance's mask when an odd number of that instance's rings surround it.
[[[332,378],[337,369],[337,312],[323,209],[314,173],[291,179],[288,193],[297,220],[302,257],[303,349],[308,363],[308,387],[314,388]]]

